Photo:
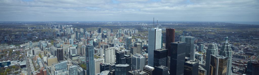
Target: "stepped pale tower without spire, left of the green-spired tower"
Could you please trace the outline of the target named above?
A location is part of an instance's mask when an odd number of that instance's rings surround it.
[[[207,71],[206,74],[209,74],[210,72],[210,56],[211,55],[218,55],[218,47],[217,44],[209,44],[208,49],[206,51],[206,64],[205,64],[205,69]]]

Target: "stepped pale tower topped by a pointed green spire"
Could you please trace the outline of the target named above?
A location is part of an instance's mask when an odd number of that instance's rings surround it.
[[[227,74],[226,75],[231,75],[232,74],[232,49],[229,43],[227,42],[228,37],[226,37],[226,42],[222,45],[219,55],[227,57],[228,62],[227,62]]]

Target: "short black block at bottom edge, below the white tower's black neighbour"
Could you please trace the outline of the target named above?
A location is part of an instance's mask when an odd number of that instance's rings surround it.
[[[169,75],[168,67],[166,66],[155,66],[154,75]]]

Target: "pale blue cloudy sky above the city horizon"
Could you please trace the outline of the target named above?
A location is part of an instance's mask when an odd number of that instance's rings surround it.
[[[0,21],[253,21],[259,0],[0,0]]]

